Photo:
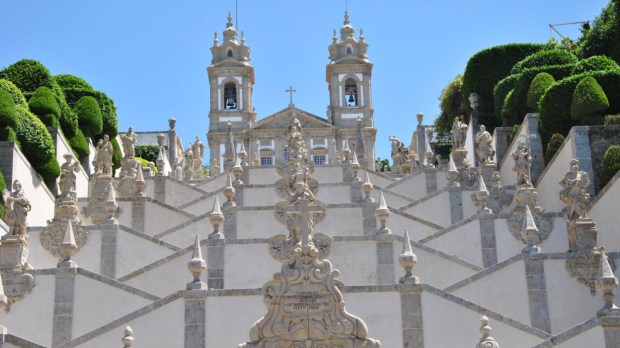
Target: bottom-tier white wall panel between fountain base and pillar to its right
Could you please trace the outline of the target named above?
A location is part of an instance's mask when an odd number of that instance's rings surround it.
[[[402,347],[403,331],[400,293],[346,293],[347,312],[360,317],[368,326],[368,337],[381,347]]]

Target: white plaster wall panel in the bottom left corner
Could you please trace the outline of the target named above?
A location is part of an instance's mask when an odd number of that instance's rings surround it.
[[[0,311],[0,323],[10,334],[49,347],[52,343],[56,279],[53,275],[37,275],[34,282],[32,292],[14,303],[10,312]]]

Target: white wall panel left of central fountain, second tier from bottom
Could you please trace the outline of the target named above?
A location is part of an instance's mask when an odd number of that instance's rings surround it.
[[[281,263],[271,257],[269,245],[227,244],[224,248],[224,287],[261,288],[280,271]]]

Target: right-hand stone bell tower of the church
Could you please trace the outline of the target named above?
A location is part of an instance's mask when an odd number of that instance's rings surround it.
[[[355,28],[349,21],[348,12],[340,28],[340,39],[334,30],[332,44],[329,46],[329,64],[326,67],[326,80],[329,87],[329,122],[338,128],[337,147],[342,148],[345,140],[357,146],[360,164],[374,169],[374,148],[377,130],[374,127],[372,92],[370,79],[372,63],[366,51],[363,30],[355,38]],[[359,120],[359,121],[358,121]],[[361,130],[361,132],[360,132]],[[339,138],[339,139],[338,139]]]

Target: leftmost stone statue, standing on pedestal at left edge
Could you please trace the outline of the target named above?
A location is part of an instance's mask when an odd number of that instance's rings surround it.
[[[9,225],[9,235],[27,235],[28,224],[26,219],[32,209],[30,201],[24,197],[22,184],[19,180],[13,181],[13,193],[2,191],[4,200],[4,222]]]

